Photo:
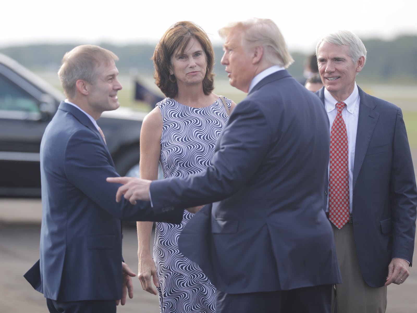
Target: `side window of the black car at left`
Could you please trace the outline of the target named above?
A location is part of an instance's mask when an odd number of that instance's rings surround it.
[[[0,75],[0,111],[40,113],[38,101],[3,75]]]

